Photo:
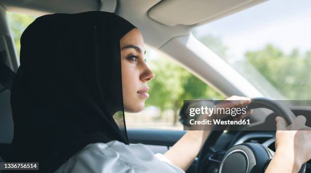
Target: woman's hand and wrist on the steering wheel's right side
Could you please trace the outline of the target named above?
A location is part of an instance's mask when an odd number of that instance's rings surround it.
[[[266,172],[298,172],[311,159],[311,128],[305,126],[305,117],[297,116],[288,126],[282,117],[276,117],[275,154]]]

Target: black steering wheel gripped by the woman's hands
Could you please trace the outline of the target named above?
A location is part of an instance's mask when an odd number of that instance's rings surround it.
[[[281,115],[288,124],[296,116],[281,102],[268,98],[252,98],[247,109],[267,108]],[[224,131],[212,131],[203,145],[198,157],[196,173],[212,172],[211,165],[216,165],[219,173],[231,172],[264,172],[274,152],[268,147],[256,143],[243,143],[235,145],[227,151],[215,151],[213,146]],[[212,164],[213,163],[213,164]],[[305,163],[299,173],[305,172]],[[216,169],[213,169],[216,170]],[[213,171],[214,172],[214,171]]]

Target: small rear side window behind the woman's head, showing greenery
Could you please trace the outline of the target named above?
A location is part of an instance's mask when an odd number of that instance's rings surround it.
[[[7,16],[9,19],[10,30],[13,36],[17,57],[19,59],[20,36],[26,27],[36,19],[36,17],[12,12],[7,12]]]

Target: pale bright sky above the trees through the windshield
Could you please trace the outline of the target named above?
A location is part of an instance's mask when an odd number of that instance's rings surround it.
[[[214,35],[229,48],[232,58],[272,44],[285,53],[311,51],[311,1],[271,0],[195,29]]]

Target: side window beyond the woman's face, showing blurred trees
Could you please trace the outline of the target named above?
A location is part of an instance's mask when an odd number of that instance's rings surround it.
[[[145,101],[144,110],[139,113],[125,113],[128,128],[182,130],[179,109],[183,100],[225,99],[166,55],[147,48],[146,58],[155,78],[148,81],[149,98]]]

